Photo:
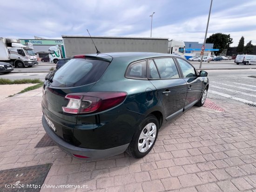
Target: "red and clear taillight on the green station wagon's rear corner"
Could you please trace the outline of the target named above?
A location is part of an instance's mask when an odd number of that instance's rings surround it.
[[[67,94],[67,106],[62,106],[65,113],[81,114],[105,111],[119,105],[126,98],[126,92],[88,92]]]

